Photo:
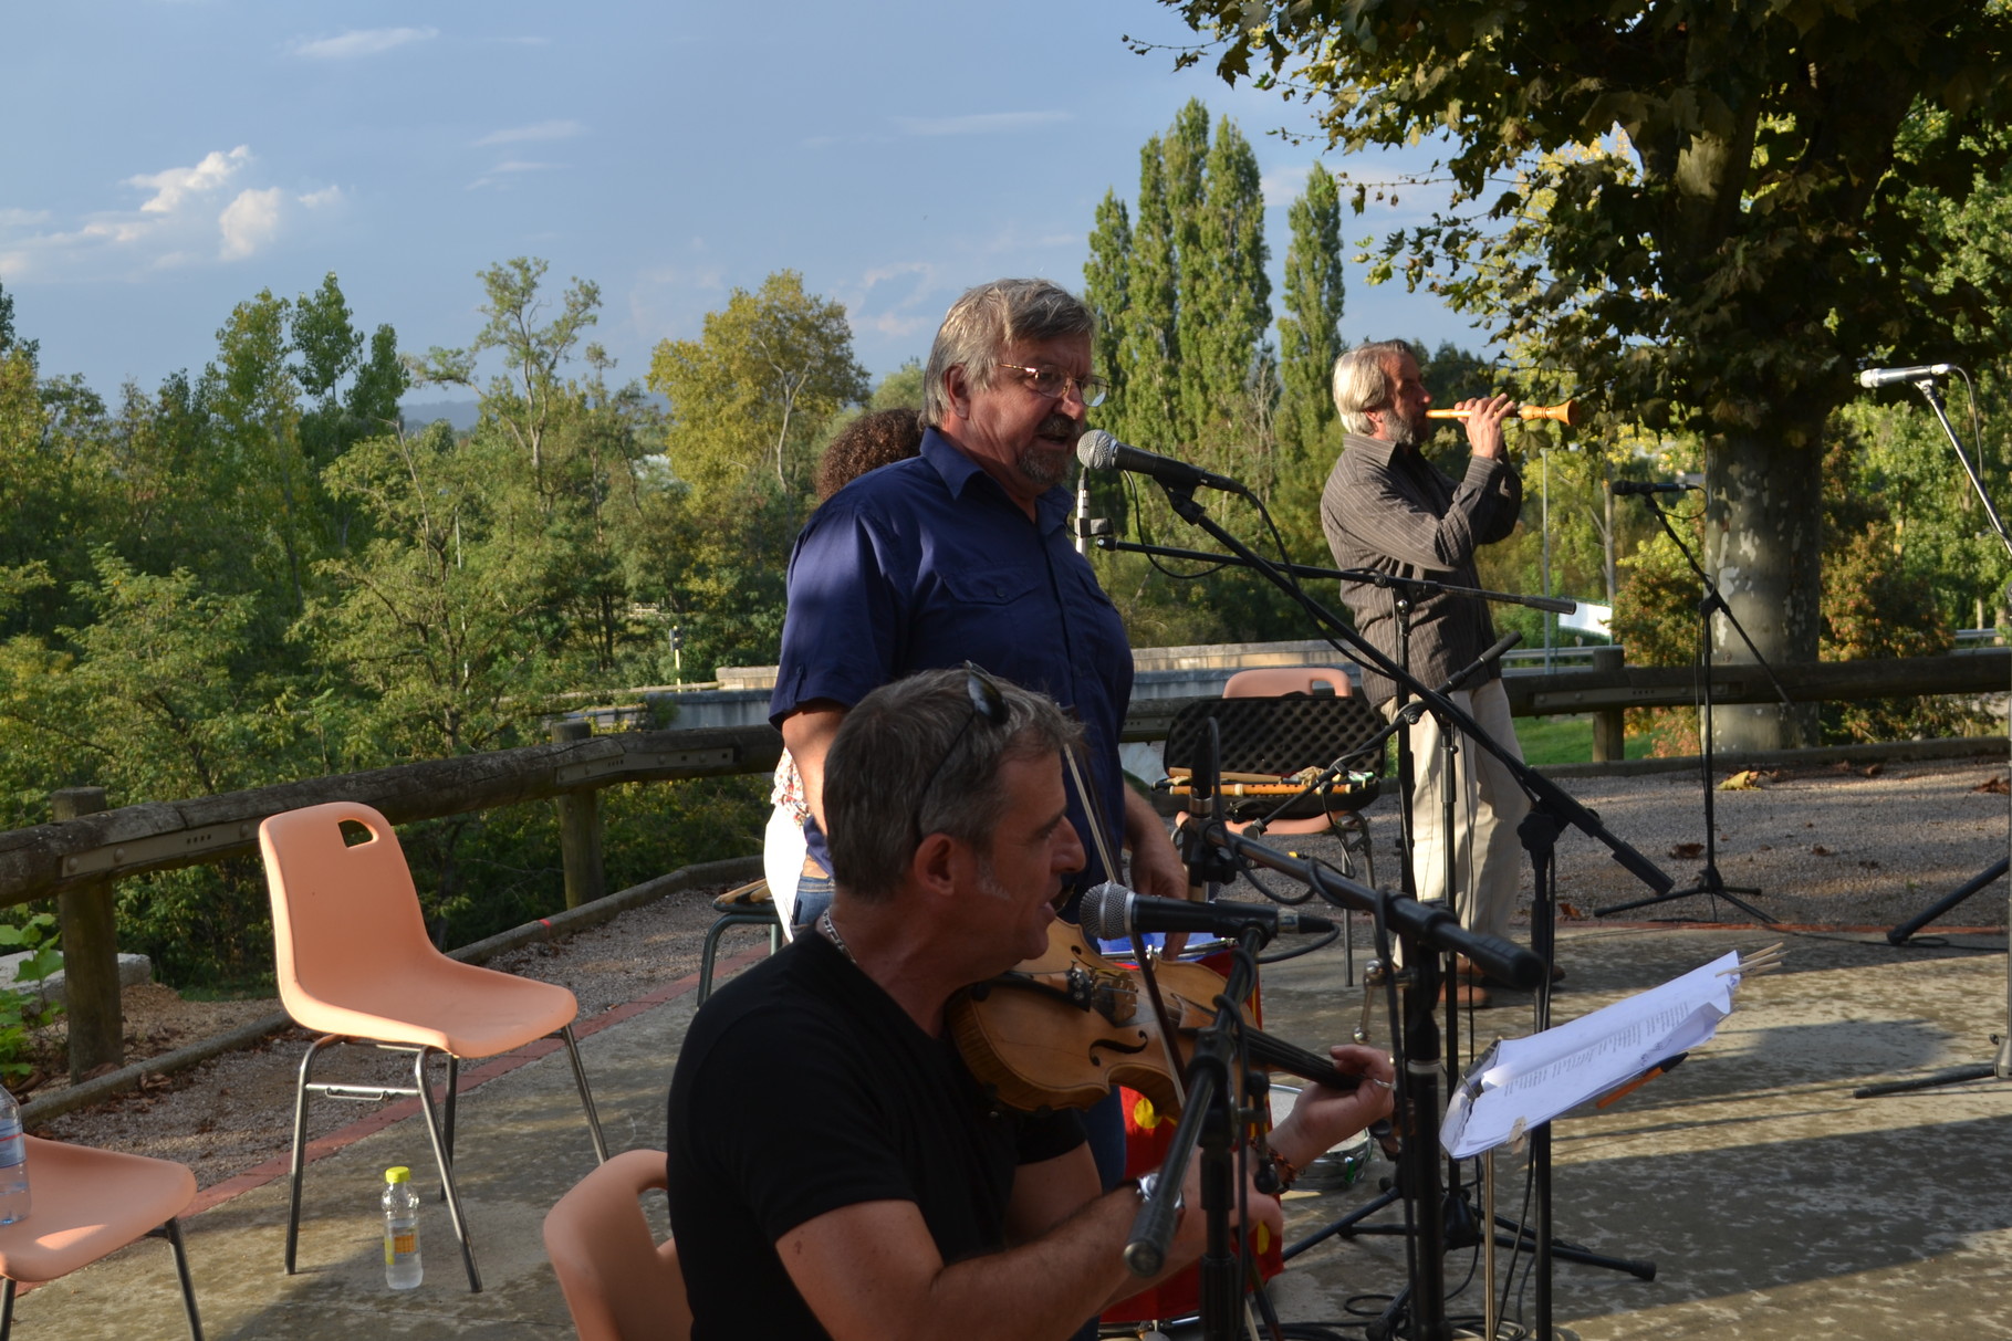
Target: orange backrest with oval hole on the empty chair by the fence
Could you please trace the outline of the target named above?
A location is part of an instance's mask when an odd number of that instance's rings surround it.
[[[352,846],[346,822],[368,830],[368,840]],[[441,959],[427,937],[404,848],[380,812],[346,800],[288,810],[258,826],[258,844],[272,895],[280,1001],[288,1009],[302,995],[368,1001],[378,983],[396,983]]]

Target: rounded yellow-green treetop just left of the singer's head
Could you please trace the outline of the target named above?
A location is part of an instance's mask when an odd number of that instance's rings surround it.
[[[718,489],[759,466],[783,493],[805,491],[819,428],[869,390],[845,306],[805,294],[793,269],[734,290],[698,340],[658,344],[648,382],[670,400],[680,476]]]

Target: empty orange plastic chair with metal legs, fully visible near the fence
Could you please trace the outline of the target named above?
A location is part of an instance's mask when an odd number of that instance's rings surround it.
[[[354,826],[362,836],[350,844]],[[286,1271],[294,1273],[300,1242],[302,1154],[308,1144],[308,1096],[378,1102],[418,1096],[427,1136],[441,1166],[447,1214],[461,1240],[469,1289],[483,1287],[475,1249],[455,1190],[455,1092],[461,1060],[493,1058],[541,1037],[565,1043],[573,1084],[588,1112],[594,1154],[608,1160],[602,1120],[594,1112],[588,1072],[573,1041],[579,1003],[565,987],[537,983],[449,959],[433,947],[418,913],[418,893],[390,822],[370,806],[328,802],[288,810],[258,828],[272,893],[274,959],[280,1001],[304,1029],[322,1037],[300,1062],[294,1094],[292,1206],[286,1216]],[[314,1062],[330,1045],[380,1047],[412,1053],[410,1088],[316,1084]],[[445,1120],[427,1084],[433,1053],[447,1058]]]

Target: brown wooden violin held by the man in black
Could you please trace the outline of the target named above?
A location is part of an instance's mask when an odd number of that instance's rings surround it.
[[[1000,1104],[1022,1112],[1088,1108],[1129,1086],[1169,1116],[1181,1112],[1179,1070],[1193,1033],[1215,1023],[1223,977],[1199,963],[1167,961],[1155,969],[1161,1001],[1175,1027],[1169,1049],[1159,1015],[1135,969],[1093,951],[1078,927],[1048,927],[1048,953],[958,991],[946,1017],[964,1064]],[[1354,1090],[1360,1076],[1304,1047],[1243,1029],[1247,1056],[1334,1090]]]

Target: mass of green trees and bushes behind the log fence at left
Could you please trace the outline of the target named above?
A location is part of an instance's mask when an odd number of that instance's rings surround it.
[[[575,279],[551,304],[543,273],[525,257],[485,269],[475,340],[414,360],[388,326],[364,336],[334,275],[296,300],[258,294],[199,378],[127,386],[117,408],[40,378],[32,342],[0,332],[0,824],[44,822],[68,784],[121,806],[541,740],[561,694],[668,682],[678,619],[690,657],[773,659],[807,501],[763,470],[730,511],[678,481],[664,414],[583,344],[596,288]],[[791,275],[765,285],[777,298],[839,340],[825,372],[863,400],[843,312]],[[777,348],[759,322],[722,330],[746,336],[748,360]],[[479,376],[491,358],[503,372]],[[773,372],[748,360],[718,366]],[[479,386],[477,428],[404,434],[412,376]],[[688,388],[676,410],[757,422],[765,386]],[[879,396],[917,390],[909,364]],[[835,402],[793,394],[761,422],[809,452]],[[608,877],[630,885],[757,848],[765,788],[628,786],[604,806]],[[402,838],[443,945],[559,907],[549,804]],[[115,897],[123,945],[163,979],[270,989],[256,858],[123,879]],[[0,1049],[6,1025],[0,1003]]]

